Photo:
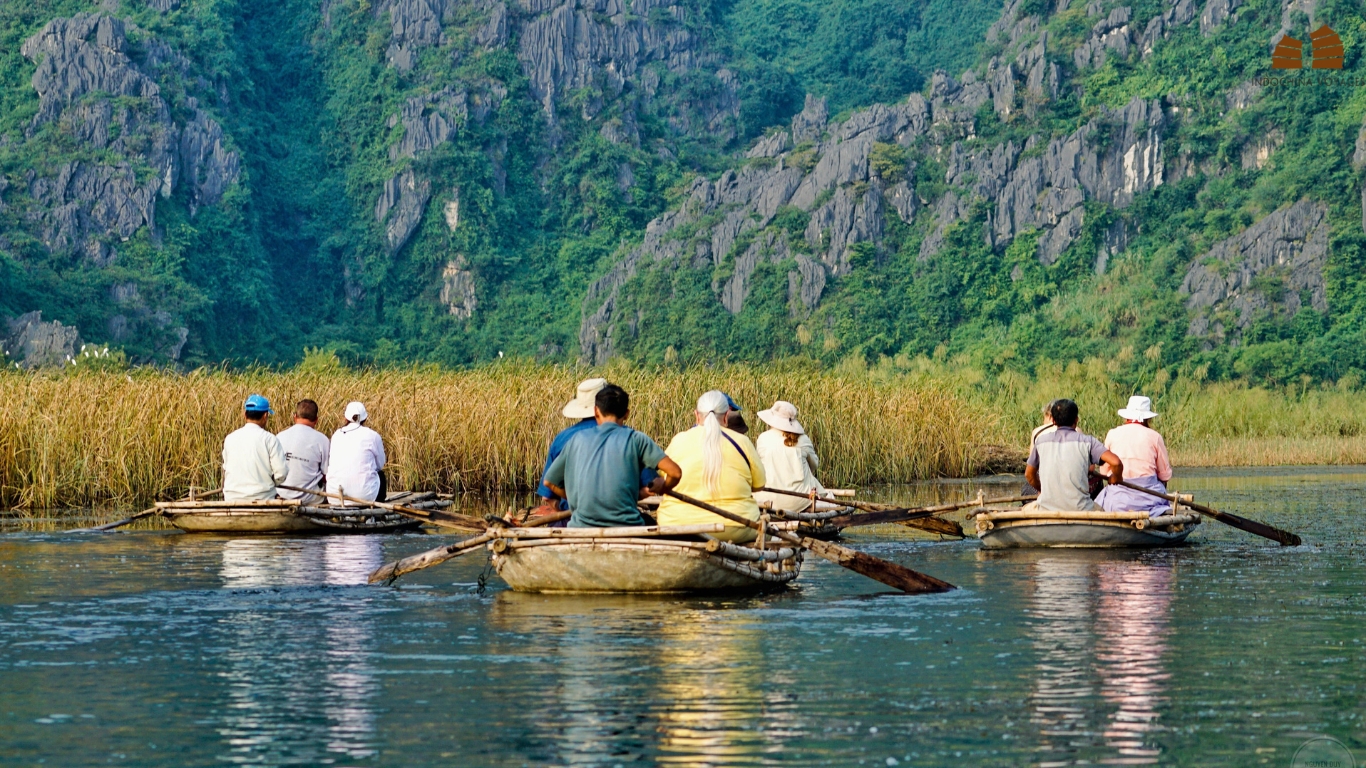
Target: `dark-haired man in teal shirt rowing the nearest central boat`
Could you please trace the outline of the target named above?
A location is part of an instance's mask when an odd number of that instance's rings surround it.
[[[654,440],[626,426],[631,402],[624,389],[607,384],[593,400],[596,426],[568,440],[541,482],[568,499],[574,510],[570,527],[645,525],[635,506],[641,497],[641,473],[658,469],[649,491],[663,493],[678,485],[683,470]]]

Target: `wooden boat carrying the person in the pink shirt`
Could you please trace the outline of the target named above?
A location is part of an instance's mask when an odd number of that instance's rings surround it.
[[[1201,523],[1198,514],[1180,508],[1157,518],[1145,511],[1046,512],[1030,508],[985,510],[975,518],[977,536],[988,549],[1176,547]]]

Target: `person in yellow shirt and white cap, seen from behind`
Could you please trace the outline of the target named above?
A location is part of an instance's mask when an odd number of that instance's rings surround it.
[[[746,519],[759,519],[754,491],[764,488],[764,465],[750,439],[721,426],[729,400],[716,389],[697,400],[697,426],[673,436],[665,454],[683,470],[678,491],[721,507]],[[660,502],[660,525],[697,525],[723,522],[719,515],[665,496]],[[716,537],[724,541],[753,541],[753,529],[725,523]]]

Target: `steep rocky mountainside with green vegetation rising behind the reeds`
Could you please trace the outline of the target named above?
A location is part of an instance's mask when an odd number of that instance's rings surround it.
[[[738,8],[107,0],[16,22],[7,348],[999,365],[1142,344],[1229,372],[1243,346],[1348,333],[1366,115],[1261,78],[1337,11],[1012,0],[966,71],[777,112],[746,101],[755,72],[798,75],[732,45]],[[1355,156],[1328,124],[1363,126]],[[1111,291],[1138,309],[1086,305]]]

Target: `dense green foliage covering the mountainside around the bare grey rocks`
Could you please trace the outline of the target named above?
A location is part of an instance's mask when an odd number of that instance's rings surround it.
[[[1281,7],[1270,0],[1247,0],[1212,37],[1198,23],[1186,25],[1146,59],[1111,56],[1098,70],[1076,72],[1070,52],[1093,23],[1085,5],[1074,0],[1045,20],[1048,53],[1070,83],[1063,97],[1029,119],[1000,120],[984,109],[970,146],[1064,135],[1101,107],[1161,97],[1183,113],[1165,137],[1168,160],[1183,153],[1195,168],[1191,176],[1124,210],[1089,208],[1086,231],[1049,266],[1034,257],[1031,234],[988,247],[985,208],[955,225],[929,260],[919,256],[933,225],[929,215],[903,224],[893,213],[888,236],[858,245],[852,272],[833,280],[809,316],[788,306],[791,264],[762,264],[735,316],[716,301],[728,265],[708,273],[661,264],[642,271],[624,294],[624,312],[637,310],[641,323],[619,351],[646,362],[962,355],[992,372],[1104,358],[1134,385],[1180,374],[1274,384],[1359,379],[1366,372],[1366,242],[1358,172],[1348,159],[1366,92],[1332,85],[1336,72],[1306,70],[1299,77],[1315,85],[1266,90],[1251,107],[1229,109],[1235,89],[1269,72],[1266,40],[1281,23]],[[1132,5],[1138,29],[1165,7],[1156,0]],[[1000,44],[982,42],[1000,12],[990,0],[687,7],[709,55],[736,74],[738,123],[710,134],[679,131],[678,112],[716,82],[706,72],[667,75],[661,93],[680,96],[635,104],[637,143],[608,141],[598,130],[624,116],[626,97],[608,100],[590,122],[591,96],[567,94],[552,126],[515,52],[469,40],[484,14],[473,5],[452,22],[448,45],[400,71],[385,61],[385,18],[366,0],[325,10],[309,0],[184,0],[167,14],[127,3],[120,15],[191,61],[197,79],[163,83],[164,96],[173,111],[190,97],[212,105],[243,159],[242,183],[194,215],[179,195],[160,201],[160,231],[123,243],[116,266],[105,269],[49,251],[18,206],[0,208],[0,314],[42,309],[102,340],[111,312],[104,297],[134,282],[149,301],[187,320],[182,362],[190,365],[288,362],[305,347],[381,365],[464,365],[500,354],[572,359],[587,284],[682,198],[694,174],[739,163],[734,157],[749,139],[787,122],[806,93],[828,97],[832,115],[847,113],[922,89],[937,67],[984,67],[1000,53]],[[51,174],[89,152],[52,126],[29,135],[34,68],[19,53],[48,19],[86,10],[76,0],[0,3],[0,172],[11,201],[29,174]],[[1309,37],[1303,14],[1290,20],[1291,34]],[[1355,71],[1366,37],[1358,11],[1325,0],[1314,25],[1325,22],[1343,36],[1347,71]],[[389,150],[400,134],[391,118],[437,81],[497,83],[505,96],[486,120],[467,120],[436,150],[395,160]],[[1246,146],[1270,134],[1281,145],[1264,165],[1240,161]],[[884,178],[908,175],[925,200],[947,190],[943,157],[930,148],[880,148],[873,163]],[[421,228],[391,256],[374,201],[385,179],[410,165],[434,179],[432,201]],[[440,210],[456,194],[466,224],[451,231]],[[1236,346],[1188,336],[1177,288],[1190,264],[1303,197],[1329,206],[1329,310],[1269,314]],[[806,217],[785,209],[775,225],[800,247]],[[1132,236],[1097,275],[1102,232],[1116,219]],[[443,269],[455,258],[478,276],[478,310],[469,318],[437,301]],[[153,347],[154,339],[138,338],[128,354],[153,359]]]

